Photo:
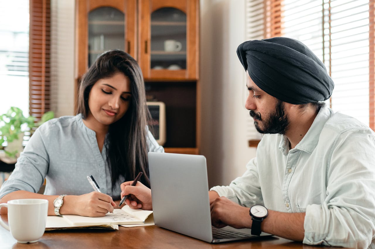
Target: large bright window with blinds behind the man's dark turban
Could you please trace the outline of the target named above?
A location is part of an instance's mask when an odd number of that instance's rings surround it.
[[[248,0],[247,38],[305,43],[335,82],[329,105],[375,128],[374,0]]]

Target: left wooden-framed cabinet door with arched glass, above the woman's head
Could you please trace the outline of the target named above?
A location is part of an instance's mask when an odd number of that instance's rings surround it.
[[[76,79],[96,56],[121,49],[136,59],[136,0],[76,1]]]

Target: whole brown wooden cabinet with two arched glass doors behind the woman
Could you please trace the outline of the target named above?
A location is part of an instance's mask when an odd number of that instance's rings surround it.
[[[76,89],[99,54],[128,52],[165,103],[165,151],[198,154],[199,0],[79,0],[76,15]]]

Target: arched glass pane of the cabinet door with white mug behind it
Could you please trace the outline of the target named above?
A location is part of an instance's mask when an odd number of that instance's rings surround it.
[[[186,13],[163,7],[151,13],[151,70],[186,70]]]

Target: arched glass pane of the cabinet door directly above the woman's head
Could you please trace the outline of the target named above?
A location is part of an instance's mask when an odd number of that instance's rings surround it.
[[[124,50],[124,20],[124,13],[113,7],[99,7],[89,12],[89,67],[104,51]]]

